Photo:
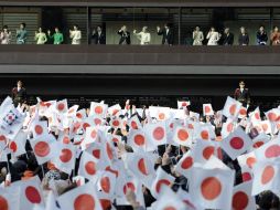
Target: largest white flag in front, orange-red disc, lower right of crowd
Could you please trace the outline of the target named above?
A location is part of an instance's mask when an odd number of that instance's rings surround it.
[[[235,171],[224,168],[206,169],[194,166],[190,195],[205,209],[230,209]]]

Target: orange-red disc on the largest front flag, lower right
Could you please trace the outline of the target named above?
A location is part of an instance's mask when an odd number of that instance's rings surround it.
[[[201,186],[201,192],[204,199],[214,200],[222,192],[222,183],[217,178],[208,177],[203,180]]]

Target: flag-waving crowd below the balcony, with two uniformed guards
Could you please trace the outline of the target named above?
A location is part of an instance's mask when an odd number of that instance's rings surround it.
[[[19,81],[0,106],[0,209],[280,209],[280,107],[247,113],[244,82],[222,111],[191,103],[30,105]]]

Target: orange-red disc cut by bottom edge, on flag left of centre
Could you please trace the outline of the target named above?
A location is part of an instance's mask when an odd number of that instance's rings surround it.
[[[74,201],[75,210],[93,210],[95,209],[95,199],[88,193],[79,195]]]

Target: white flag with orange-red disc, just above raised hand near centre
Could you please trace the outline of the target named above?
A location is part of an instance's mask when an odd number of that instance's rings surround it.
[[[155,124],[147,124],[144,133],[147,138],[155,146],[166,144],[166,127],[165,122],[158,122]]]

